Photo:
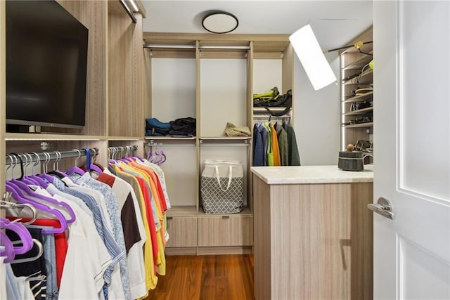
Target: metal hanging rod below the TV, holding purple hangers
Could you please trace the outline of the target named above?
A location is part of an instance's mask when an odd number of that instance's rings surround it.
[[[91,156],[98,155],[98,148],[89,148],[89,152],[91,153]],[[52,159],[63,159],[63,158],[70,158],[70,157],[86,156],[86,150],[78,149],[78,150],[70,150],[70,151],[49,151],[49,152],[39,152],[39,153],[37,153],[37,152],[22,152],[22,153],[15,153],[15,154],[20,155],[23,162],[27,162],[27,159],[30,159],[30,155],[31,155],[31,161],[28,160],[28,162],[41,162],[41,161],[52,160]],[[39,157],[39,159],[37,159],[37,157]],[[16,160],[15,156],[12,153],[10,153],[9,155],[6,155],[6,164],[15,164],[15,163],[20,164],[19,157],[17,157],[17,160]]]

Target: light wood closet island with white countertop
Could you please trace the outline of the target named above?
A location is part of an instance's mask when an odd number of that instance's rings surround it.
[[[372,299],[372,167],[251,168],[255,299]]]

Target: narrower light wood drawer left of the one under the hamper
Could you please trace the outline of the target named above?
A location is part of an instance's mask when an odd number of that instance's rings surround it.
[[[166,247],[197,247],[197,217],[167,217]]]

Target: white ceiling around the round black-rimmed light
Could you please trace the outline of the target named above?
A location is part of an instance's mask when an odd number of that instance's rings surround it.
[[[220,10],[236,15],[236,34],[292,34],[309,23],[324,50],[346,45],[372,24],[372,0],[141,2],[144,32],[209,33],[201,21]]]

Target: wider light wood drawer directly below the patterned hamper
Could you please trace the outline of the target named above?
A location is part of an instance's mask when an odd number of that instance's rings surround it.
[[[200,216],[198,247],[252,246],[253,216]]]

